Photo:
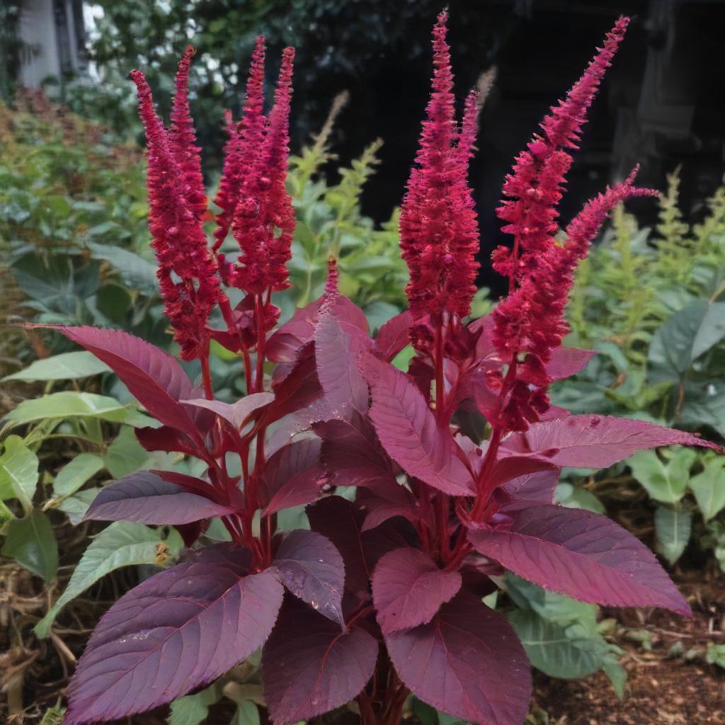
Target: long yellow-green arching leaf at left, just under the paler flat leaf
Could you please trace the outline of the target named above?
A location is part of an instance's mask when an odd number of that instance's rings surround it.
[[[25,423],[62,418],[99,418],[101,421],[127,423],[130,426],[157,425],[152,418],[138,413],[133,407],[121,405],[115,398],[72,390],[23,400],[5,416],[4,421],[6,428],[13,428]]]

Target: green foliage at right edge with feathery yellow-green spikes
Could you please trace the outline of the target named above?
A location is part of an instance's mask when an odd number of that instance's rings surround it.
[[[660,196],[655,231],[638,228],[618,208],[612,229],[582,265],[568,308],[571,344],[598,355],[560,386],[556,402],[574,413],[626,415],[723,438],[725,188],[692,228],[679,210],[678,190],[675,172]],[[721,550],[722,457],[640,452],[600,480],[617,479],[626,468],[655,502],[656,548],[671,564],[697,534]]]

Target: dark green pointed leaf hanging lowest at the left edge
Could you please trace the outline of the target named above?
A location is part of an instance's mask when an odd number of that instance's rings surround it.
[[[2,554],[12,557],[46,581],[55,579],[58,571],[58,544],[50,519],[41,511],[33,511],[27,518],[10,521]]]

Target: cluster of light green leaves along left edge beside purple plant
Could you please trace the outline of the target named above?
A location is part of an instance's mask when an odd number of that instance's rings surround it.
[[[58,574],[57,531],[67,522],[80,524],[102,481],[139,468],[178,465],[168,455],[149,454],[136,442],[133,428],[156,422],[135,404],[91,392],[96,376],[105,370],[88,352],[68,352],[4,378],[46,386],[46,394],[23,400],[3,418],[0,534],[2,554],[48,584]],[[55,386],[67,388],[65,378],[70,377],[76,380],[72,389],[54,391]],[[84,378],[91,381],[84,385],[88,389],[78,384]],[[79,562],[71,562],[65,592],[36,626],[36,634],[47,637],[59,610],[104,574],[133,564],[165,565],[181,548],[176,531],[113,523],[94,537]]]

